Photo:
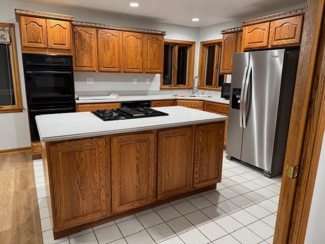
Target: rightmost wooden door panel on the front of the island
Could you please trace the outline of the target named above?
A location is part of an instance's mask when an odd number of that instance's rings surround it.
[[[224,122],[196,126],[193,187],[221,181]]]

